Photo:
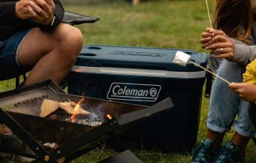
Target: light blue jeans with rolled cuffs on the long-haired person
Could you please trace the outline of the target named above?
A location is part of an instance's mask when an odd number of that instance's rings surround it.
[[[217,69],[217,74],[230,82],[240,83],[243,81],[244,66],[236,62],[222,60]],[[218,133],[229,132],[232,125],[241,136],[254,136],[255,129],[248,115],[247,101],[243,101],[233,92],[228,84],[215,78],[212,86],[208,119],[208,129]],[[235,120],[237,115],[237,119]]]

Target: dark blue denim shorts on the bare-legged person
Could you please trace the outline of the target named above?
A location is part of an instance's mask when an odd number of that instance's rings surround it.
[[[32,69],[29,66],[19,66],[16,62],[16,52],[20,47],[23,38],[30,32],[24,30],[13,34],[4,41],[0,41],[0,79],[10,79],[15,76],[27,73]]]

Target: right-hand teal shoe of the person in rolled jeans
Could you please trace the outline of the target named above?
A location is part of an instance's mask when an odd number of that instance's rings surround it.
[[[240,147],[237,147],[230,140],[219,151],[214,163],[244,163],[245,157],[239,154]]]

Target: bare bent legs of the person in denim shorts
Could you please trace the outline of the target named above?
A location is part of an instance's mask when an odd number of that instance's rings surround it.
[[[69,73],[83,46],[76,27],[61,24],[52,33],[35,28],[24,38],[17,55],[20,66],[34,66],[25,85],[52,79],[56,83]]]

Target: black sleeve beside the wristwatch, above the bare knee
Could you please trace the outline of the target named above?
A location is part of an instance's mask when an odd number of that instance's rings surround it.
[[[62,3],[59,0],[54,0],[54,2],[55,2],[55,11],[54,11],[55,22],[52,25],[50,24],[48,26],[44,26],[44,25],[39,24],[39,27],[43,31],[54,30],[55,27],[57,27],[60,23],[62,23],[62,19],[63,19],[63,16],[64,16],[64,8],[62,6]]]

